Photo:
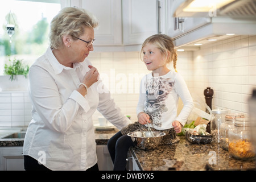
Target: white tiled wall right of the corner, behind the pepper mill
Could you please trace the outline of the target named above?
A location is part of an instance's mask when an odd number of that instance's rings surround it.
[[[256,89],[256,36],[234,36],[193,52],[193,90],[214,90],[213,108],[248,113]]]

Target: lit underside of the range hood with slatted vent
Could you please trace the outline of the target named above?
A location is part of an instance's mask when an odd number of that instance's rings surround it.
[[[176,17],[226,16],[233,19],[255,19],[256,0],[180,0]]]

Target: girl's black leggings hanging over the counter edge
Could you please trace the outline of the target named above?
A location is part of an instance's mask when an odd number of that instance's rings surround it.
[[[108,150],[114,164],[114,171],[126,170],[127,152],[131,146],[134,146],[131,137],[122,135],[120,131],[108,141]]]

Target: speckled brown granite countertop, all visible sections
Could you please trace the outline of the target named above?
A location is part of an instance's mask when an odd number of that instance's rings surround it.
[[[96,143],[107,144],[117,131],[116,128],[95,130]],[[0,139],[1,146],[23,146],[23,139]],[[234,159],[219,144],[193,144],[184,136],[175,144],[158,146],[155,150],[131,147],[130,151],[144,171],[256,170],[255,160]]]

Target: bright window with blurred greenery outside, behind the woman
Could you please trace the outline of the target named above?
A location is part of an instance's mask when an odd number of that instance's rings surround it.
[[[3,75],[9,58],[20,59],[31,65],[46,51],[49,46],[49,24],[61,6],[60,0],[9,0],[1,4],[0,75]],[[6,31],[7,23],[15,24],[11,39]]]

